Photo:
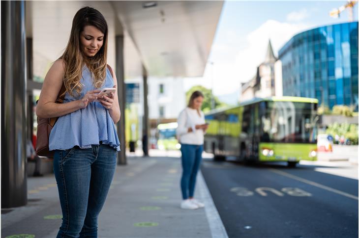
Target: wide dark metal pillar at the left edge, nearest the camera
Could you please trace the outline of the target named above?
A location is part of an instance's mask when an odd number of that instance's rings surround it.
[[[1,208],[27,203],[25,2],[1,1]]]

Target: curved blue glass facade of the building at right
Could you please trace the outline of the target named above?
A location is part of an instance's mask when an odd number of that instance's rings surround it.
[[[279,50],[283,95],[358,110],[358,22],[301,32]]]

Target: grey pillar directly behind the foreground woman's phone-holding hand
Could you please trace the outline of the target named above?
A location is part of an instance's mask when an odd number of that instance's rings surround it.
[[[123,35],[116,36],[116,77],[118,96],[121,109],[120,122],[117,124],[117,133],[120,139],[121,151],[118,153],[117,164],[125,165],[126,160],[126,138],[125,138],[125,108],[126,108],[126,85],[124,84],[124,67],[123,67]]]

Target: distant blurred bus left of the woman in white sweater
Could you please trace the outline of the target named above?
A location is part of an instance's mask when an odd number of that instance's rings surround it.
[[[177,122],[163,123],[157,126],[157,148],[160,150],[178,150],[180,144],[176,139]]]

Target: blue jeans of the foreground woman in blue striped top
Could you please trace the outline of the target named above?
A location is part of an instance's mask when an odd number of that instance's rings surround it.
[[[97,238],[97,217],[116,169],[117,151],[105,144],[56,150],[62,224],[57,238]]]

